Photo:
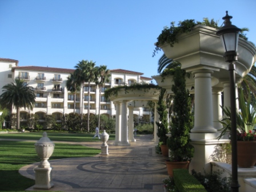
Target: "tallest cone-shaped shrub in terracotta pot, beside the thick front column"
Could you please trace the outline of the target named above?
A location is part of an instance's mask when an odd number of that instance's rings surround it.
[[[171,136],[167,139],[170,158],[166,161],[168,174],[173,177],[173,169],[188,169],[194,155],[194,147],[190,143],[191,105],[189,91],[186,90],[185,70],[175,68],[173,116],[171,117]]]

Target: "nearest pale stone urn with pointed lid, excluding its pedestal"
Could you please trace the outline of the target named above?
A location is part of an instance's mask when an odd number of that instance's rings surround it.
[[[43,132],[43,137],[35,143],[35,151],[37,152],[37,155],[42,159],[38,167],[50,167],[48,159],[53,154],[54,146],[54,143],[47,137],[47,133]]]

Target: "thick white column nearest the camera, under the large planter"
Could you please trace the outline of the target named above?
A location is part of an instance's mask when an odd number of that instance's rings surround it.
[[[193,71],[195,79],[195,121],[191,133],[215,133],[213,127],[213,99],[211,70]]]

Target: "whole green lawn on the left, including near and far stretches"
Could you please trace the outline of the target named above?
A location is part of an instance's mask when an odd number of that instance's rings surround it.
[[[55,141],[99,141],[91,139],[93,134],[63,134],[49,133],[47,136],[54,141],[55,149],[49,160],[89,157],[101,152],[99,149],[92,149],[81,145],[68,145]],[[0,134],[5,139],[27,139],[39,140],[42,133],[18,133]],[[0,191],[24,191],[35,184],[35,181],[25,178],[18,173],[18,170],[31,163],[39,162],[41,159],[35,153],[35,142],[0,141]]]

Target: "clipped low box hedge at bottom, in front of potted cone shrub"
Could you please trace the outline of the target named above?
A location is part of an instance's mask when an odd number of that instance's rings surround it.
[[[186,169],[173,170],[173,179],[175,187],[179,192],[205,192],[206,189],[201,183]],[[218,190],[216,190],[218,191]]]

